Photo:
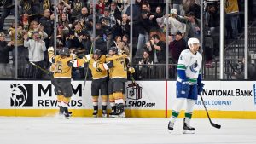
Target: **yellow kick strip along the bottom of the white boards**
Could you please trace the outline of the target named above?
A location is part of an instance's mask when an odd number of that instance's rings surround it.
[[[70,109],[73,112],[73,117],[91,117],[92,109]],[[108,110],[108,113],[110,110]],[[165,118],[165,110],[125,110],[125,116],[128,118]],[[102,111],[99,111],[101,117]],[[168,111],[167,117],[171,116],[172,111]],[[0,116],[20,116],[20,117],[44,117],[55,116],[58,114],[57,109],[0,109]],[[256,119],[255,111],[209,111],[211,118],[241,118],[241,119]],[[184,112],[180,112],[178,118],[183,118]],[[193,118],[207,118],[207,113],[204,110],[195,110]]]

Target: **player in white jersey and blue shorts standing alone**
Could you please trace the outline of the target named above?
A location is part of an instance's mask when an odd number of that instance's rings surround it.
[[[175,120],[186,103],[183,133],[194,133],[195,128],[190,126],[190,120],[197,95],[201,94],[204,84],[201,83],[202,56],[198,52],[200,42],[192,37],[189,38],[188,45],[189,49],[182,51],[177,63],[177,100],[172,109],[168,130],[173,130]]]

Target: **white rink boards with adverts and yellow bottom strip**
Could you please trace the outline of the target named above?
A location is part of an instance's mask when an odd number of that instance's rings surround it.
[[[253,81],[205,81],[203,98],[212,118],[256,119],[256,83]],[[90,81],[73,81],[70,110],[75,117],[91,117]],[[127,117],[168,118],[175,102],[176,81],[137,81],[125,95]],[[54,86],[49,81],[0,81],[0,116],[54,116]],[[109,109],[109,107],[108,107]],[[183,117],[183,112],[180,114]],[[194,118],[207,118],[200,97]]]

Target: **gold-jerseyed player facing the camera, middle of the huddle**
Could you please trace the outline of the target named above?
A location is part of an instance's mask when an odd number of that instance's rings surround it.
[[[89,61],[89,68],[92,74],[92,83],[91,83],[91,96],[93,103],[93,117],[97,117],[98,115],[98,99],[99,99],[99,91],[101,91],[102,96],[102,117],[107,117],[107,102],[108,102],[108,72],[102,71],[99,68],[94,68],[93,64],[95,62],[104,63],[106,62],[106,55],[102,55],[101,50],[96,49],[93,55],[86,55],[86,60]],[[91,59],[90,59],[91,58]],[[78,63],[84,62],[83,60],[78,60]],[[74,62],[76,63],[76,61]]]

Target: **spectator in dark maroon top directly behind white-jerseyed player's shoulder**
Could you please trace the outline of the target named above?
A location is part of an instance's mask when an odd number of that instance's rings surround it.
[[[169,49],[170,49],[170,57],[174,63],[177,64],[177,60],[179,58],[180,53],[183,49],[187,48],[186,41],[183,39],[183,35],[181,32],[177,32],[175,39],[170,42]]]

